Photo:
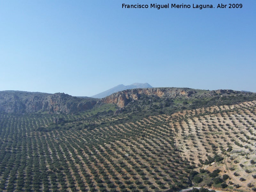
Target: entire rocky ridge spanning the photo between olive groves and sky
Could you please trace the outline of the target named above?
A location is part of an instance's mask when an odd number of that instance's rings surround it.
[[[145,113],[148,113],[147,111],[152,108],[174,112],[182,108],[192,109],[214,104],[234,104],[253,98],[256,98],[256,94],[252,92],[208,91],[175,87],[129,89],[115,92],[102,99],[73,97],[65,93],[0,91],[0,112],[13,114],[36,112],[74,114],[92,108],[102,112],[100,106],[105,104],[112,106],[111,110],[114,114],[141,110],[142,108],[144,108]]]

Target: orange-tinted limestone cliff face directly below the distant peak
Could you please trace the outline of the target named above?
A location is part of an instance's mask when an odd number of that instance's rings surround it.
[[[189,97],[195,94],[196,91],[189,88],[144,88],[144,89],[130,89],[113,93],[101,100],[99,103],[114,103],[122,108],[132,100],[139,100],[142,95],[152,95],[156,97]]]

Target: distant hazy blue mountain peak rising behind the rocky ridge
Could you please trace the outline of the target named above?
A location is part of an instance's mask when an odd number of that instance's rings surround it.
[[[91,97],[101,99],[101,98],[107,97],[107,96],[109,96],[115,92],[118,92],[118,91],[124,91],[127,89],[136,89],[136,88],[153,88],[153,87],[148,83],[134,83],[131,85],[120,84],[120,85],[117,85],[117,86],[107,90],[107,91],[101,92],[101,93],[93,95]]]

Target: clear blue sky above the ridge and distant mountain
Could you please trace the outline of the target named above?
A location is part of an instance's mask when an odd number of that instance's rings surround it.
[[[243,8],[217,9],[219,3]],[[256,92],[256,1],[1,0],[0,72],[1,91],[91,96],[147,82]]]

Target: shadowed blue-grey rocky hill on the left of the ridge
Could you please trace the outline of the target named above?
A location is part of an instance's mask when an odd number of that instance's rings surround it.
[[[96,100],[72,97],[65,93],[39,92],[0,92],[0,111],[7,113],[33,113],[46,111],[48,113],[71,114],[91,109]]]

